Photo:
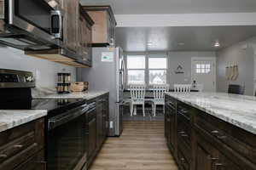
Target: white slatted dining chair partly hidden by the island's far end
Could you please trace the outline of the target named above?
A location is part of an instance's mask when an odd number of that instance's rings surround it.
[[[161,84],[153,86],[154,99],[152,100],[152,111],[155,116],[156,105],[163,105],[165,109],[165,93],[169,91],[169,84]]]

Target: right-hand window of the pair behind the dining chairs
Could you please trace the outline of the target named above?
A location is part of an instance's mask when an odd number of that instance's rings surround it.
[[[149,84],[166,84],[166,58],[148,58]]]

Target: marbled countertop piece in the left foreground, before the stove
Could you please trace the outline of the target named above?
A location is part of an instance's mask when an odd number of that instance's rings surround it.
[[[44,110],[0,110],[0,133],[46,115]]]

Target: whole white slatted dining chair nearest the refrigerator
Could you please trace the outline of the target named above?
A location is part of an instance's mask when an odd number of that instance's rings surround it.
[[[145,93],[146,86],[143,84],[132,84],[131,89],[131,116],[133,116],[133,111],[136,105],[143,105],[143,116],[145,116]]]

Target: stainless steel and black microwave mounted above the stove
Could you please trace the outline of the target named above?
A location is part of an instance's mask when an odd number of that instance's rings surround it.
[[[0,0],[0,43],[21,49],[61,46],[61,10],[45,0]]]

